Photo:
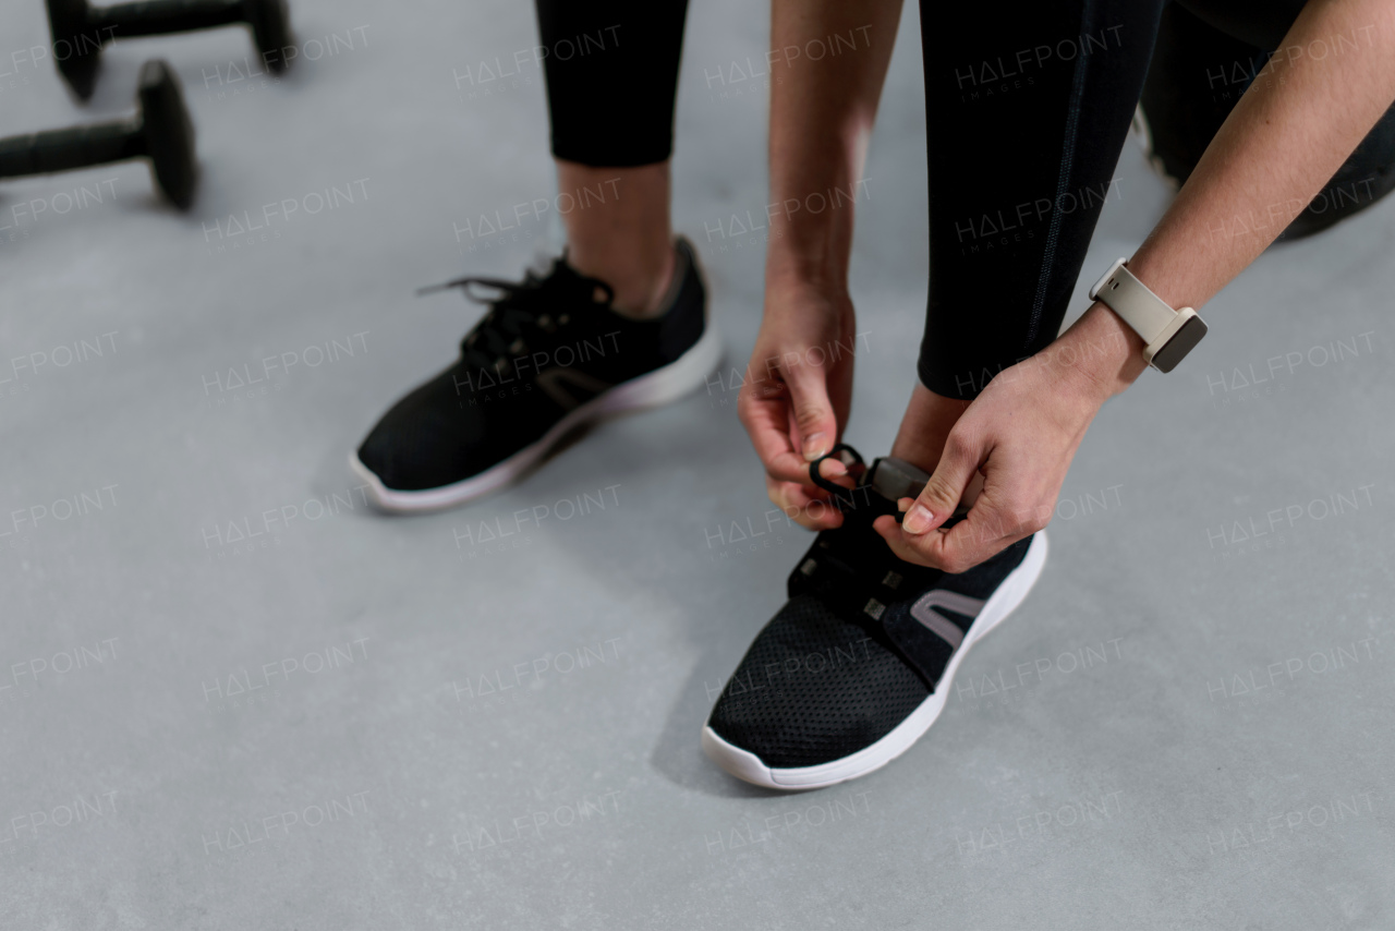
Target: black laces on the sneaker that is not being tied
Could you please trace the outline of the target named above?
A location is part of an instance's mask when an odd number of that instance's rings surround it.
[[[522,356],[529,352],[529,339],[538,334],[554,334],[558,327],[571,322],[571,315],[565,311],[552,317],[550,301],[561,296],[571,282],[561,281],[558,268],[564,260],[558,260],[552,272],[540,276],[527,272],[522,282],[509,282],[498,278],[458,278],[444,285],[431,285],[417,289],[417,295],[432,295],[451,288],[465,292],[467,300],[477,304],[487,304],[488,311],[480,322],[460,341],[460,357],[472,366],[492,368],[505,374],[509,356]],[[615,299],[615,292],[603,281],[582,278],[575,275],[578,282],[587,288],[598,288],[604,293],[604,303],[608,306]],[[487,288],[491,295],[481,295],[473,288]],[[601,303],[601,301],[597,301]]]

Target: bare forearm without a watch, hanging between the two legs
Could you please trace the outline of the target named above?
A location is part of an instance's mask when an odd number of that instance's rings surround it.
[[[852,207],[900,15],[901,0],[771,1],[781,67],[770,85],[769,283],[847,289]]]

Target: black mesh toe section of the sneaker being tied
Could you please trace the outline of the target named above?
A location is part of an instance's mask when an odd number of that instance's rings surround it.
[[[815,766],[880,740],[929,694],[865,630],[797,595],[756,636],[709,726],[769,766]]]

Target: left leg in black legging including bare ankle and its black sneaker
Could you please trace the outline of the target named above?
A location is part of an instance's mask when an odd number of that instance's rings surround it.
[[[706,286],[668,223],[684,13],[685,0],[537,0],[569,253],[518,283],[445,285],[488,310],[352,456],[379,508],[490,494],[576,427],[675,401],[716,368]]]

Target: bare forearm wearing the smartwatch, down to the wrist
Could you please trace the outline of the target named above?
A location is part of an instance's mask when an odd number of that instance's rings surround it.
[[[1307,207],[1392,99],[1395,6],[1313,0],[1129,268],[1173,307],[1201,307]],[[1113,346],[1088,373],[1106,395],[1147,367],[1143,341],[1102,304],[1067,335]]]

